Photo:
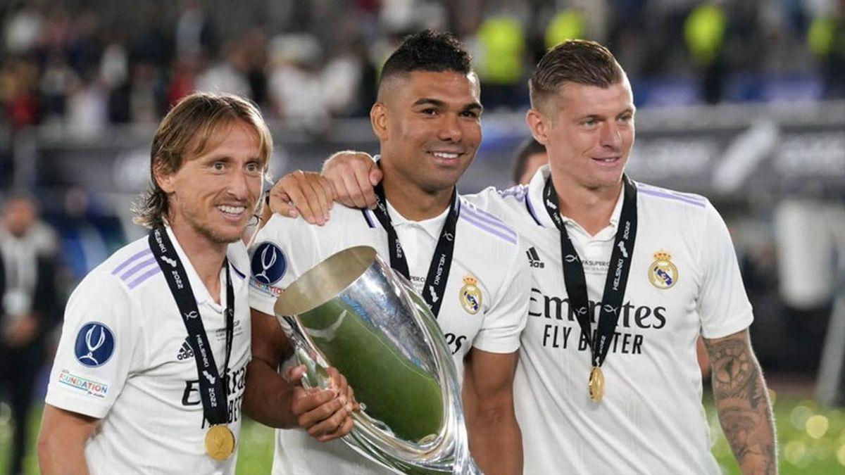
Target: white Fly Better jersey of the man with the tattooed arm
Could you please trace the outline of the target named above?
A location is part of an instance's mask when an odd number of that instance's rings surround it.
[[[701,196],[636,183],[628,287],[602,366],[604,397],[593,402],[590,350],[564,285],[560,234],[542,202],[548,174],[542,167],[528,186],[476,195],[519,230],[532,267],[514,383],[525,473],[718,473],[695,341],[753,319],[724,221]],[[564,217],[584,266],[593,331],[623,195],[595,236]]]

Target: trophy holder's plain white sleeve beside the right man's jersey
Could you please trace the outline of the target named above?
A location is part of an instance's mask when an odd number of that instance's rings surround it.
[[[481,330],[472,346],[485,352],[510,353],[520,347],[520,334],[526,326],[531,298],[531,270],[521,259],[520,247],[511,256],[510,267],[499,286],[498,295],[484,314]]]

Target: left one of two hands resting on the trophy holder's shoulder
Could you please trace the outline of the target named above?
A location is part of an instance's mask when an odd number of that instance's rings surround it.
[[[290,172],[270,190],[270,210],[274,213],[297,217],[323,226],[329,221],[329,210],[334,205],[335,193],[331,183],[317,172]]]

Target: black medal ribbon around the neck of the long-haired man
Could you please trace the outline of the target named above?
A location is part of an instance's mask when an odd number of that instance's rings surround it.
[[[234,340],[235,319],[235,291],[232,288],[232,277],[229,275],[229,260],[224,259],[226,266],[226,358],[223,363],[223,376],[217,370],[214,354],[211,352],[208,336],[205,334],[203,319],[199,315],[197,300],[188,281],[188,272],[176,248],[167,236],[163,227],[156,227],[150,232],[150,249],[156,262],[161,267],[167,281],[167,287],[176,300],[179,313],[188,330],[188,344],[194,350],[194,360],[199,374],[199,396],[203,402],[203,413],[211,425],[229,422],[228,401],[226,399],[226,378],[229,373],[229,357],[232,355],[232,340]]]

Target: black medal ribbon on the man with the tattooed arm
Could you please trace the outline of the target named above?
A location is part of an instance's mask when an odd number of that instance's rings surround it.
[[[625,287],[628,285],[631,259],[634,258],[637,223],[636,186],[627,176],[623,176],[622,181],[624,183],[622,213],[619,216],[619,227],[616,229],[616,238],[613,241],[613,252],[610,254],[604,293],[601,301],[597,303],[601,305],[601,310],[595,338],[591,334],[591,312],[586,292],[584,266],[581,265],[581,257],[575,251],[570,235],[566,232],[564,220],[560,216],[558,193],[554,189],[551,177],[548,178],[543,191],[543,204],[546,206],[548,216],[551,216],[554,225],[560,231],[560,252],[564,263],[566,293],[569,295],[570,305],[575,309],[578,325],[581,326],[581,335],[590,345],[592,365],[596,368],[600,368],[604,363],[604,358],[608,356],[610,341],[616,330],[616,322],[619,320],[619,311],[622,308]]]

